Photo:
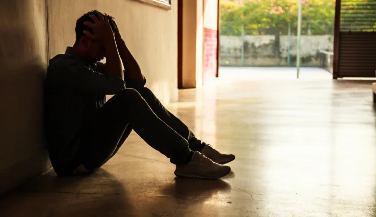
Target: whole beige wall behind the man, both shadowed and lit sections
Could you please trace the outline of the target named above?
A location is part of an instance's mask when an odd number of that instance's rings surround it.
[[[42,85],[49,56],[74,43],[82,14],[113,15],[151,88],[177,100],[177,0],[172,10],[135,0],[0,1],[0,194],[50,167],[43,139]]]

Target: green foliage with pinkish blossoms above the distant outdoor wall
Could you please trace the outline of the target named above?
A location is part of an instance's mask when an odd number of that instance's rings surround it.
[[[302,34],[332,34],[335,0],[302,0]],[[221,0],[221,34],[291,34],[297,29],[297,0]]]

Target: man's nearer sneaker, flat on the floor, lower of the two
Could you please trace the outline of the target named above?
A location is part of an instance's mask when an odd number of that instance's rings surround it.
[[[198,151],[186,165],[176,165],[175,175],[178,177],[217,179],[226,176],[231,171],[229,166],[213,162]]]

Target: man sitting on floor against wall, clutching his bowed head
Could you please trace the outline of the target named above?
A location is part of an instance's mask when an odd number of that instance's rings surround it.
[[[216,179],[230,172],[222,164],[234,155],[198,140],[144,87],[146,79],[113,17],[88,12],[75,30],[73,47],[50,60],[45,80],[47,143],[58,175],[94,172],[132,129],[170,158],[176,176]],[[104,57],[106,64],[99,62]],[[106,102],[109,94],[114,96]]]

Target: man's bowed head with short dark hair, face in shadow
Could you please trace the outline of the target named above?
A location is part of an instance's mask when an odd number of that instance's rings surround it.
[[[100,41],[95,41],[84,34],[84,30],[93,34],[93,30],[87,25],[84,25],[84,22],[87,21],[94,23],[94,20],[90,17],[90,15],[95,15],[97,17],[98,15],[101,15],[104,18],[107,18],[113,32],[117,31],[117,27],[112,16],[96,10],[90,11],[78,18],[76,22],[76,42],[74,44],[74,48],[86,61],[96,62],[102,60],[106,55],[104,45]]]

